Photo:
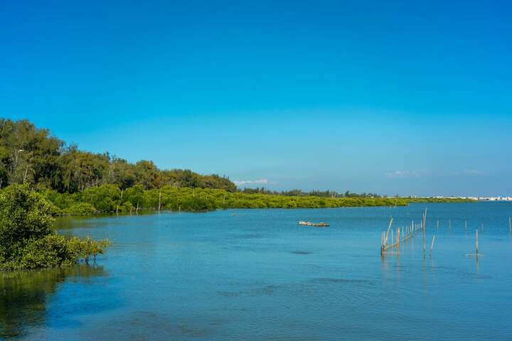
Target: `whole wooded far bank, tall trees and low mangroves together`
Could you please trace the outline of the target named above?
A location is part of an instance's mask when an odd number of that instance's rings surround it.
[[[306,208],[407,205],[372,193],[265,188],[243,193],[225,176],[190,170],[162,171],[151,161],[129,163],[109,153],[90,153],[65,146],[29,121],[0,119],[0,188],[26,183],[63,215],[139,210],[205,211],[217,208]]]

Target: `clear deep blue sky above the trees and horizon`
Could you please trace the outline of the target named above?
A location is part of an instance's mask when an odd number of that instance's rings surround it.
[[[268,188],[512,195],[508,1],[1,1],[1,117]]]

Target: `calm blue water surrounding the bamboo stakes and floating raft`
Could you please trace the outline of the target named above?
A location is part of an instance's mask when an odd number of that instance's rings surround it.
[[[402,227],[425,207],[432,256],[418,234],[381,259],[390,215]],[[0,338],[512,340],[509,215],[483,202],[62,219],[113,246],[94,266],[0,275]]]

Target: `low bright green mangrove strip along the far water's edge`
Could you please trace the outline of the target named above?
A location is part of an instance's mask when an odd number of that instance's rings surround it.
[[[203,212],[229,208],[326,208],[356,206],[405,206],[407,200],[386,197],[316,197],[228,192],[215,188],[164,186],[145,190],[134,185],[122,190],[117,185],[100,185],[82,192],[59,193],[41,190],[60,215],[97,213],[137,214],[141,210]]]

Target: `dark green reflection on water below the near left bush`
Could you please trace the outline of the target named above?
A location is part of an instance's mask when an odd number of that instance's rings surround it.
[[[87,283],[92,276],[105,276],[102,266],[0,273],[0,337],[19,337],[27,326],[44,325],[46,305],[59,283],[70,278]]]

